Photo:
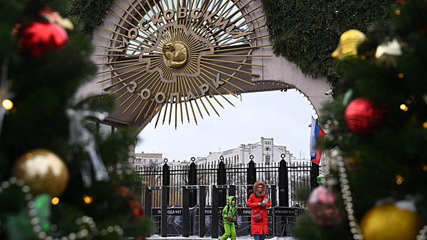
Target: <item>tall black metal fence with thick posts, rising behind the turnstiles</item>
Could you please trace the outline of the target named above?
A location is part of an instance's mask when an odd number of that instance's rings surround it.
[[[255,164],[251,161],[248,165],[242,164],[203,164],[194,163],[186,166],[143,166],[135,169],[135,193],[144,206],[146,187],[168,186],[168,206],[183,205],[183,186],[205,186],[207,189],[206,204],[212,204],[212,186],[233,185],[236,187],[236,198],[239,206],[245,207],[246,200],[252,193],[252,186],[257,180],[262,180],[268,187],[266,193],[270,201],[277,206],[307,207],[306,196],[311,189],[316,187],[319,166],[312,165],[310,161],[301,161],[287,164],[284,160],[270,165]],[[272,189],[275,188],[275,193]],[[225,206],[228,193],[220,195],[220,206]],[[275,199],[271,197],[275,196]],[[216,200],[215,200],[216,201]],[[161,207],[161,191],[152,193],[152,207]],[[190,206],[195,206],[196,194],[190,198]]]

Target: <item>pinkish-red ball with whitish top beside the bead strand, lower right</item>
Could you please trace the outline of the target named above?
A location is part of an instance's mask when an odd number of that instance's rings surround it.
[[[308,214],[316,224],[333,227],[341,222],[344,212],[337,207],[336,191],[316,187],[308,198]]]

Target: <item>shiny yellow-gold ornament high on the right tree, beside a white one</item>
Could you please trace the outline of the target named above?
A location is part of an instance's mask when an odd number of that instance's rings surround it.
[[[331,54],[332,58],[344,59],[348,56],[356,56],[357,48],[360,43],[366,40],[365,34],[356,29],[350,29],[347,32],[341,34],[338,47]]]

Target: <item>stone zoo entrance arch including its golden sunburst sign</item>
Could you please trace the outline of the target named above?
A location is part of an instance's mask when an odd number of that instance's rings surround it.
[[[316,112],[332,99],[325,79],[275,56],[260,1],[116,0],[93,45],[98,74],[77,97],[115,95],[108,125],[143,129],[172,119],[176,127],[207,106],[216,112],[218,97],[257,91],[296,88]]]

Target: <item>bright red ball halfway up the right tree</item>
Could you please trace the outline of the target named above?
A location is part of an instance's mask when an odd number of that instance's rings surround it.
[[[345,108],[345,123],[354,134],[372,134],[373,130],[380,125],[384,111],[384,107],[375,106],[367,99],[356,98]]]

